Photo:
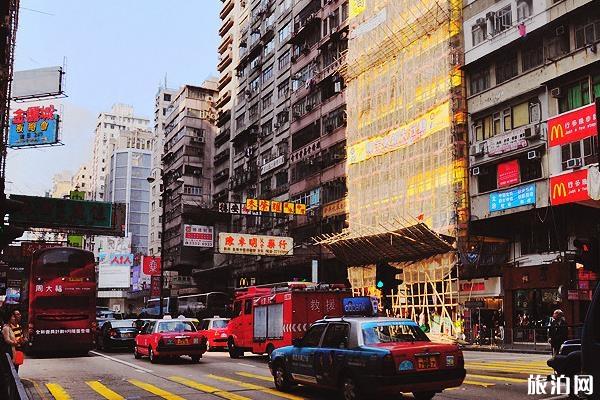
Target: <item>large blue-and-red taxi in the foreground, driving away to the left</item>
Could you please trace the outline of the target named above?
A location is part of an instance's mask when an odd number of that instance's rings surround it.
[[[301,383],[341,390],[346,400],[400,392],[429,400],[466,374],[458,346],[432,343],[412,320],[383,317],[319,320],[275,349],[269,368],[281,391]]]

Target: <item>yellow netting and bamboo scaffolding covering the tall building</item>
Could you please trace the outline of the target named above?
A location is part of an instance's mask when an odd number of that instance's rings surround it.
[[[341,71],[347,84],[348,228],[322,243],[339,249],[373,233],[418,225],[458,238],[468,218],[461,1],[351,0],[350,17]],[[456,254],[441,249],[392,264],[404,279],[392,311],[437,315],[442,322],[436,329],[452,334]],[[373,266],[357,267],[349,269],[350,281],[359,292],[375,291]]]

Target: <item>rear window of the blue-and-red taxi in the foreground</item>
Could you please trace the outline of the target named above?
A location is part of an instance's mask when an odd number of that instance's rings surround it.
[[[382,321],[362,324],[365,345],[378,343],[429,342],[429,338],[412,321]]]

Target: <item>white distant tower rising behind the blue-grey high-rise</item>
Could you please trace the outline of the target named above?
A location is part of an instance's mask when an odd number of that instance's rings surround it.
[[[117,137],[120,132],[132,129],[148,129],[150,121],[136,116],[132,106],[114,104],[110,112],[98,115],[94,132],[94,148],[90,165],[92,175],[92,198],[102,201],[105,196],[105,181],[108,174],[108,141]]]

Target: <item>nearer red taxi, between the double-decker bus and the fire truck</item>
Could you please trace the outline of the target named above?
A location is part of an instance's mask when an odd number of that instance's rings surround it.
[[[148,321],[136,336],[133,349],[135,358],[148,356],[151,363],[179,356],[190,356],[193,362],[198,362],[205,352],[206,337],[187,319]]]

